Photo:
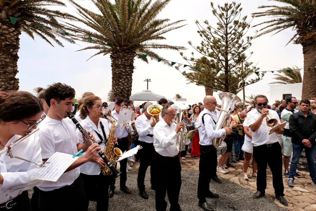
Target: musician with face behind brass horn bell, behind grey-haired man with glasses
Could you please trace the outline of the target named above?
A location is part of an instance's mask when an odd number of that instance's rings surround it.
[[[153,129],[155,127],[155,121],[153,121],[152,115],[147,113],[147,108],[153,103],[147,102],[145,104],[145,112],[138,116],[135,121],[136,130],[138,132],[138,140],[143,149],[140,151],[141,160],[138,169],[137,186],[139,194],[144,198],[148,199],[148,195],[145,191],[145,175],[146,170],[150,164],[150,183],[151,189],[155,189],[155,148],[154,148],[154,135]]]

